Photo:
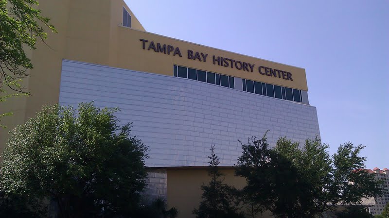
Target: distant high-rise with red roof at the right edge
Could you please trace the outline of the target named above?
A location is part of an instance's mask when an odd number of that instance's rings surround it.
[[[384,210],[385,206],[389,203],[389,169],[384,168],[380,170],[379,168],[366,169],[369,173],[374,173],[374,178],[376,180],[383,181],[384,195],[381,197],[374,198],[374,205],[369,207],[369,213],[372,215],[380,215]]]

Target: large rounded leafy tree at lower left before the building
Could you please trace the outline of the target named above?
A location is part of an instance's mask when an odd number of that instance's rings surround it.
[[[11,131],[0,166],[6,195],[49,199],[59,218],[129,216],[139,205],[148,148],[117,109],[45,106]]]

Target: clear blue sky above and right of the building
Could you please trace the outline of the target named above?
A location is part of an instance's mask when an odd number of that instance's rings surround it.
[[[330,153],[389,168],[389,1],[125,0],[146,31],[306,69]]]

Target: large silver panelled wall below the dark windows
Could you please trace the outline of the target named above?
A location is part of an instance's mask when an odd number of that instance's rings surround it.
[[[215,145],[221,166],[241,153],[238,139],[269,130],[303,143],[319,135],[316,108],[189,79],[64,61],[59,102],[119,107],[121,122],[150,146],[149,167],[207,166]]]

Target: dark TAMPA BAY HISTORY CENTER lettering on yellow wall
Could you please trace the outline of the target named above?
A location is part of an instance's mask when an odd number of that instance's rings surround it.
[[[139,39],[139,40],[142,42],[143,50],[153,50],[154,52],[182,57],[181,50],[178,47],[174,47],[172,45],[166,45],[166,44],[162,45],[159,42],[155,43],[154,41],[149,42],[146,39]],[[291,72],[286,72],[280,69],[273,69],[265,66],[256,66],[255,64],[252,63],[247,63],[240,60],[234,60],[231,58],[220,57],[216,55],[212,55],[212,58],[208,59],[208,56],[210,55],[208,55],[207,53],[193,51],[193,50],[187,50],[185,52],[185,55],[188,59],[196,60],[199,62],[207,62],[207,60],[208,61],[211,60],[214,65],[218,65],[221,67],[231,67],[231,68],[248,71],[248,72],[255,71],[265,76],[271,76],[283,80],[293,81]]]

